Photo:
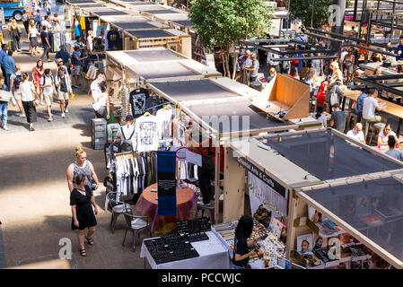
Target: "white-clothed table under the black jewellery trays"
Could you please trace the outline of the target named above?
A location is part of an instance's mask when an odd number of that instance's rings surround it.
[[[206,235],[208,240],[191,243],[193,248],[197,250],[199,257],[157,265],[145,247],[144,241],[147,239],[143,241],[141,246],[140,257],[147,258],[153,269],[230,269],[228,249],[223,246],[212,231],[207,231]]]

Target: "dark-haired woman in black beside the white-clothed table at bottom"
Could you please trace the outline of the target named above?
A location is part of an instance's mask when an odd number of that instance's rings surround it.
[[[255,250],[249,251],[253,244],[261,239],[261,236],[255,236],[250,239],[253,229],[253,219],[248,215],[241,216],[235,229],[235,238],[233,242],[233,257],[231,262],[232,269],[250,269],[248,267],[250,257],[257,255]]]

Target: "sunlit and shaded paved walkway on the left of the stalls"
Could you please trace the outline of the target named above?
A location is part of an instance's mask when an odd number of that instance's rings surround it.
[[[52,55],[52,58],[54,54]],[[29,72],[38,57],[17,55],[22,72]],[[54,63],[46,67],[55,68]],[[110,232],[110,212],[104,213],[105,187],[96,192],[101,213],[94,235],[94,246],[87,246],[87,257],[78,255],[75,233],[71,230],[71,209],[66,185],[66,168],[74,161],[74,147],[82,144],[100,180],[106,176],[103,152],[91,148],[91,100],[87,91],[75,91],[70,113],[59,116],[55,103],[54,122],[46,121],[45,107],[39,107],[39,122],[33,133],[24,118],[16,117],[10,107],[10,131],[0,130],[0,222],[4,241],[5,263],[14,266],[59,252],[59,240],[72,240],[74,259],[79,268],[143,268],[140,246],[132,252],[131,238],[122,247],[123,217],[118,218],[115,234]],[[0,248],[0,257],[2,248]],[[1,261],[1,260],[0,260]]]

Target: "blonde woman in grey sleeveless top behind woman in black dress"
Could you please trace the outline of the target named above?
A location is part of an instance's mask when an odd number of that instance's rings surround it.
[[[67,177],[67,186],[70,192],[72,192],[74,188],[74,178],[83,174],[87,177],[88,182],[87,185],[90,187],[90,190],[96,190],[100,186],[100,181],[93,169],[91,161],[87,160],[87,153],[84,152],[81,146],[75,147],[75,161],[71,163],[66,172]],[[92,188],[92,180],[94,181],[95,187]]]

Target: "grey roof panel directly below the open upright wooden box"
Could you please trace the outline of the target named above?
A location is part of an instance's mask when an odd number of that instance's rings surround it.
[[[276,119],[267,119],[265,115],[258,113],[258,110],[250,104],[250,100],[241,97],[236,97],[235,99],[210,103],[184,103],[184,106],[202,120],[206,119],[208,125],[219,133],[287,126],[284,122],[276,121]],[[213,123],[215,116],[222,124],[217,126]],[[207,119],[211,119],[212,121]]]

